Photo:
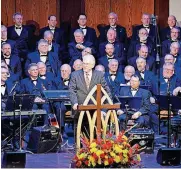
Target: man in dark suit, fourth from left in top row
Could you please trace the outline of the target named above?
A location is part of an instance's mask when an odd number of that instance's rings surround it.
[[[116,13],[111,12],[108,15],[109,25],[105,26],[100,30],[100,42],[105,42],[107,40],[107,32],[110,28],[116,31],[116,41],[123,43],[125,46],[127,44],[127,33],[126,29],[120,25],[117,25],[118,16]]]

